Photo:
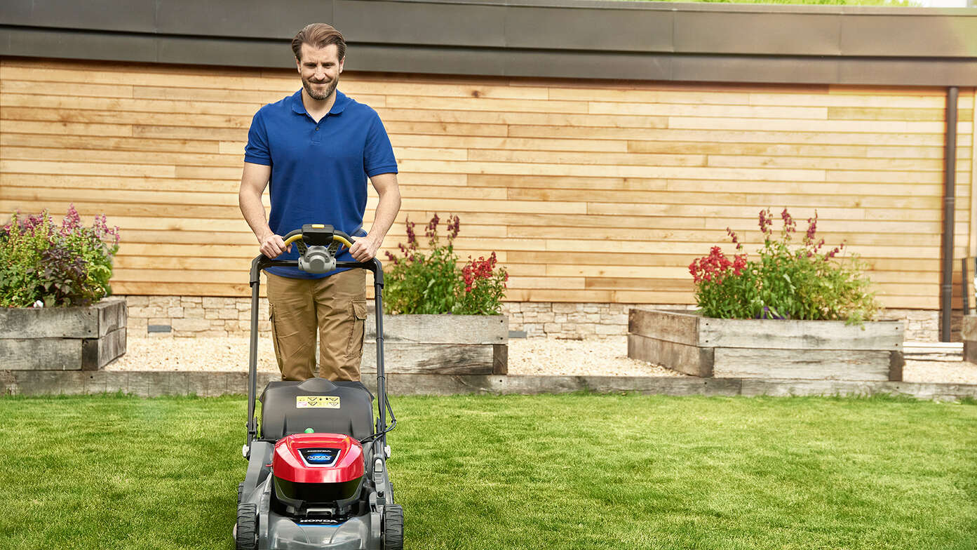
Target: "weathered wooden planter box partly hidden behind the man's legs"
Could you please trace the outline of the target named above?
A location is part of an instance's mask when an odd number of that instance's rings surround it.
[[[376,372],[376,327],[366,322],[361,371]],[[384,316],[387,372],[410,374],[506,374],[506,316]]]

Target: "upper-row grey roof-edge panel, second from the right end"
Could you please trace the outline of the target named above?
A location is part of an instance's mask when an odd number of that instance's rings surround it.
[[[678,12],[675,51],[836,56],[840,25],[835,15]]]

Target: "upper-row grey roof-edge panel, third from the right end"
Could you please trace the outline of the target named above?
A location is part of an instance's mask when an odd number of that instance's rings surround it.
[[[505,44],[548,50],[672,51],[672,12],[510,7]]]

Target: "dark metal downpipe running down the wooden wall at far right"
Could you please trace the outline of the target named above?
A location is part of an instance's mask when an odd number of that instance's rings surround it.
[[[956,102],[959,89],[947,89],[947,146],[944,151],[943,281],[940,284],[940,340],[950,342],[954,298],[954,207],[956,204]]]

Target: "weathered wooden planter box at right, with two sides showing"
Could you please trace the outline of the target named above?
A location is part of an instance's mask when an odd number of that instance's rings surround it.
[[[631,310],[627,356],[701,377],[901,381],[897,320],[719,319]]]

